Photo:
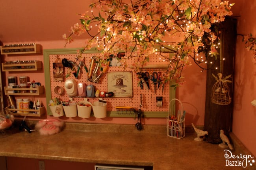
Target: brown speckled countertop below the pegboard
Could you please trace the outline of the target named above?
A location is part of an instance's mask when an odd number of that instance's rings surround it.
[[[166,135],[165,126],[144,127],[137,131],[134,125],[67,123],[65,130],[50,136],[17,132],[0,138],[0,155],[153,166],[153,170],[241,169],[225,166],[223,149],[217,144],[194,141],[193,132],[175,139]]]

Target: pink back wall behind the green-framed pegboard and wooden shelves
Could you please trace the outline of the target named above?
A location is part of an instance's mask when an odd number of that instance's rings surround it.
[[[1,2],[0,2],[1,3]],[[76,13],[83,13],[88,9],[91,1],[78,0],[76,4],[70,3],[69,0],[59,2],[35,2],[28,1],[26,4],[18,0],[2,4],[3,10],[0,11],[2,16],[2,23],[0,27],[0,40],[4,44],[19,44],[24,42],[35,42],[41,44],[43,49],[64,48],[65,42],[62,38],[64,33],[68,34],[70,26],[79,22],[79,16]],[[49,5],[50,4],[50,5]],[[10,12],[11,11],[11,12]],[[26,11],[26,12],[24,12]],[[17,15],[20,15],[17,20]],[[13,25],[11,20],[15,20]],[[83,40],[77,39],[72,44],[68,44],[67,48],[82,47]],[[11,56],[4,57],[4,60],[30,60],[30,58],[37,58],[43,60],[43,55],[30,55],[30,56]],[[6,73],[7,75],[9,73]],[[10,73],[19,75],[19,73]],[[26,73],[22,73],[25,75]],[[184,104],[186,110],[186,124],[190,125],[191,122],[197,125],[204,124],[204,101],[205,101],[205,77],[206,72],[200,73],[197,66],[191,66],[184,71],[187,83],[178,88],[176,98],[180,99]],[[36,75],[30,74],[29,77],[33,80],[40,81],[42,85],[45,84],[44,73]],[[191,88],[192,87],[192,88]],[[195,100],[195,98],[197,100]],[[43,104],[46,105],[45,97],[40,98]],[[45,117],[44,117],[45,118]],[[65,121],[77,121],[77,119],[65,119]],[[166,124],[166,119],[145,119],[145,124]],[[123,123],[135,124],[134,118],[105,118],[93,120],[79,120],[79,122],[93,122],[93,123]]]

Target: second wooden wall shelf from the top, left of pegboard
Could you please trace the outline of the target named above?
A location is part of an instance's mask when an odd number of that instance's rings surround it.
[[[2,71],[37,71],[42,68],[41,61],[26,64],[2,63]]]

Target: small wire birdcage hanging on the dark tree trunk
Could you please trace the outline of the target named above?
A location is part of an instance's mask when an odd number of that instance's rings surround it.
[[[215,82],[211,89],[211,102],[219,105],[228,105],[231,102],[231,97],[227,83],[231,83],[232,81],[227,79],[230,78],[231,75],[223,78],[222,74],[218,73],[218,76],[219,79],[215,75],[213,75],[217,82]]]

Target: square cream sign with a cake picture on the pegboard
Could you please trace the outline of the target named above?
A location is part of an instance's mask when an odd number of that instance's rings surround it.
[[[132,97],[132,71],[108,72],[108,91],[113,97]]]

